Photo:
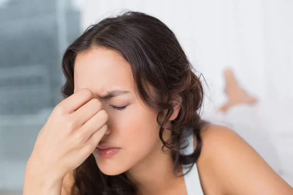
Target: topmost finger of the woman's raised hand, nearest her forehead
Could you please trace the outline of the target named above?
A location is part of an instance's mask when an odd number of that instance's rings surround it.
[[[61,107],[63,112],[73,113],[92,98],[96,98],[93,92],[84,88],[64,99],[57,106]]]

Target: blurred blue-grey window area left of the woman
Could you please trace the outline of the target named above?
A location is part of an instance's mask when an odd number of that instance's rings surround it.
[[[0,0],[0,195],[21,195],[26,161],[63,99],[63,51],[81,33],[72,0]]]

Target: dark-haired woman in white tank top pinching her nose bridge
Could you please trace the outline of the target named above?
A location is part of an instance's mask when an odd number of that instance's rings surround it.
[[[160,20],[102,20],[62,66],[66,99],[39,133],[24,195],[293,194],[243,139],[200,119],[201,82]]]

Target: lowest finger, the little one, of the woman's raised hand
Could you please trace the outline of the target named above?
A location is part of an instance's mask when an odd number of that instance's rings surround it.
[[[95,148],[98,146],[98,143],[105,135],[107,128],[108,127],[105,124],[98,131],[93,133],[91,137],[89,137],[84,147],[82,148],[82,150],[84,150],[84,153],[92,153],[95,150]]]

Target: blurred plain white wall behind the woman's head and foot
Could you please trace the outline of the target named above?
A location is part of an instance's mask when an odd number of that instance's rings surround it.
[[[261,99],[293,99],[292,0],[86,0],[82,7],[83,29],[123,9],[165,22],[204,74],[215,105],[225,101],[225,67]]]

